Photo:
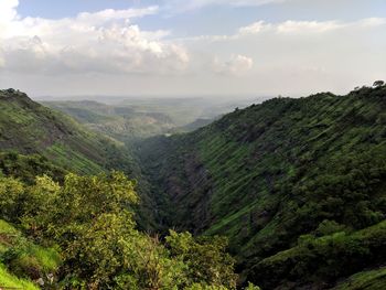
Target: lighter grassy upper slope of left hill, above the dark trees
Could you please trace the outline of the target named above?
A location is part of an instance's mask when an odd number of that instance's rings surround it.
[[[39,153],[63,169],[86,174],[132,164],[121,143],[85,130],[21,92],[0,90],[0,110],[1,151]]]

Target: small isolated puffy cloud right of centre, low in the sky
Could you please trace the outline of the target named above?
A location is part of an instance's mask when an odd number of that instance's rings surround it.
[[[215,57],[212,63],[213,72],[224,75],[240,76],[251,69],[254,61],[245,55],[232,55],[227,61]]]

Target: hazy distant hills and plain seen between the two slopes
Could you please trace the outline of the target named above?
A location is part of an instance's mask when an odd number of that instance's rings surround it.
[[[106,97],[106,101],[107,101]],[[132,143],[157,135],[187,132],[208,125],[219,116],[245,107],[251,99],[218,98],[128,98],[109,105],[95,100],[43,101],[86,125],[89,129]]]

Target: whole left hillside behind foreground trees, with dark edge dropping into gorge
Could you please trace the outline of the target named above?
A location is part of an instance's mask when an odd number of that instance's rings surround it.
[[[0,90],[0,169],[4,175],[33,182],[37,174],[61,180],[67,172],[122,171],[139,181],[142,203],[138,223],[146,228],[154,226],[149,185],[121,142],[86,129],[19,90]]]

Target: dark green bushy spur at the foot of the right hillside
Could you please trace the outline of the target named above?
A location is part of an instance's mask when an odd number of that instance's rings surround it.
[[[364,265],[384,262],[385,243],[386,222],[352,234],[305,235],[296,247],[262,259],[251,272],[267,289],[297,280],[333,286],[337,278],[361,271]]]

